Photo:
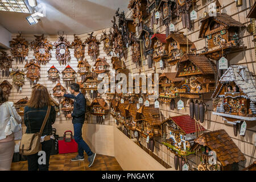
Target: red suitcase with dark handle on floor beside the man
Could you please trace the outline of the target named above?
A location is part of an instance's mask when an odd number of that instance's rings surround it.
[[[67,138],[70,135],[70,138]],[[72,131],[65,131],[64,137],[59,137],[59,154],[77,152],[78,146],[74,139]]]

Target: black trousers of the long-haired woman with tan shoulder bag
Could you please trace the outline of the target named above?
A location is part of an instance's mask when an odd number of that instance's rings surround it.
[[[47,140],[41,143],[42,151],[46,152],[46,164],[38,164],[38,153],[27,156],[28,171],[48,171],[49,169],[49,157],[52,149],[52,141]],[[42,156],[42,155],[41,155]]]

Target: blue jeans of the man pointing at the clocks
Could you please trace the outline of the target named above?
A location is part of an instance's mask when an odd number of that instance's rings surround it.
[[[90,150],[90,147],[87,143],[82,139],[82,123],[74,123],[74,138],[76,143],[79,146],[78,152],[79,156],[84,156],[84,151],[88,156],[92,155],[93,152]]]

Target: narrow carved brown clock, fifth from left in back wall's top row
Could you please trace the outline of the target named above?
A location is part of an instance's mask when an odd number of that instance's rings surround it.
[[[92,61],[96,61],[98,55],[100,55],[100,42],[98,41],[96,36],[93,36],[93,32],[87,35],[89,35],[89,38],[85,40],[84,44],[88,45],[88,55],[90,56],[90,59]]]

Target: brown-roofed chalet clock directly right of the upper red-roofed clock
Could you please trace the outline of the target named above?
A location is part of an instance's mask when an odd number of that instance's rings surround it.
[[[195,51],[195,45],[187,39],[183,32],[171,33],[166,38],[164,51],[168,51],[167,61],[170,65],[175,65],[185,53]]]

